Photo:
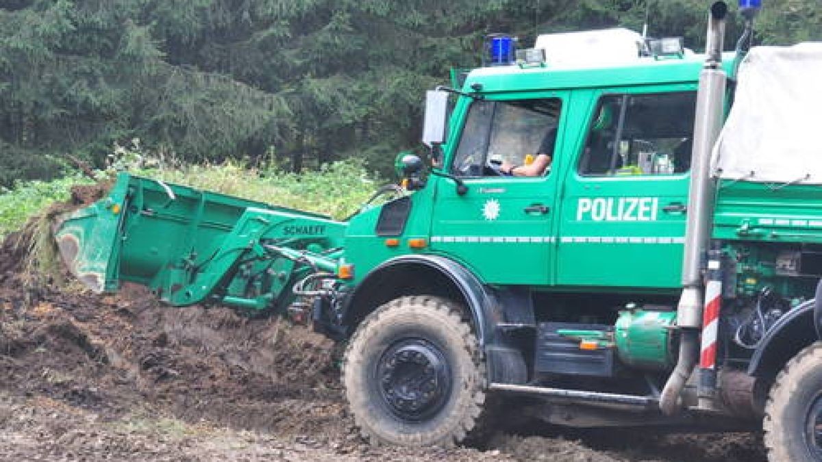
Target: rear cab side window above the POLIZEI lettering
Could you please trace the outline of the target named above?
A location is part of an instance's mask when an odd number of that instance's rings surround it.
[[[599,100],[579,172],[671,175],[690,169],[695,92],[607,95]]]

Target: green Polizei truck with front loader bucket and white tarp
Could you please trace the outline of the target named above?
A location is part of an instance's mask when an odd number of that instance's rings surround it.
[[[515,399],[577,427],[761,425],[771,460],[822,460],[822,53],[749,49],[758,7],[734,53],[723,2],[704,54],[605,30],[518,57],[492,36],[487,67],[427,95],[432,169],[399,156],[403,186],[349,220],[122,173],[58,245],[100,292],[347,342],[374,443],[453,445]]]

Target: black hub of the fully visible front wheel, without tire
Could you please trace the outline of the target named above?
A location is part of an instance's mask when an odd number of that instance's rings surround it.
[[[430,417],[450,394],[450,367],[440,349],[427,340],[392,345],[382,354],[376,373],[382,400],[405,420]]]

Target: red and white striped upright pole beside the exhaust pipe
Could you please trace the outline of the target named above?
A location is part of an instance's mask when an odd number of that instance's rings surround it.
[[[708,252],[706,276],[705,307],[702,312],[699,395],[700,398],[711,399],[717,387],[717,337],[719,310],[722,307],[722,250],[714,248]]]

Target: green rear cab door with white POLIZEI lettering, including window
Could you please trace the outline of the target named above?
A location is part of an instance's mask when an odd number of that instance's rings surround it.
[[[682,88],[598,95],[566,177],[558,284],[681,287],[695,100]]]

